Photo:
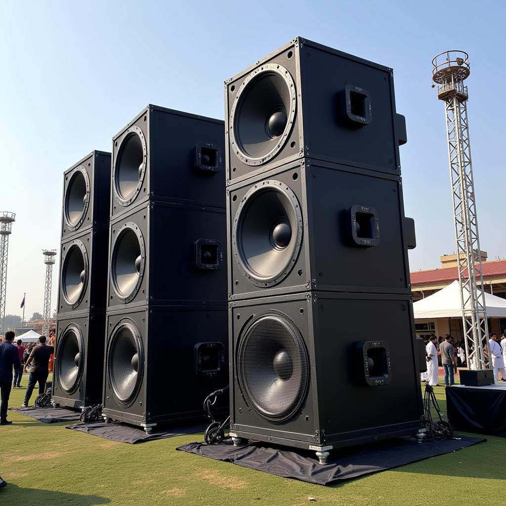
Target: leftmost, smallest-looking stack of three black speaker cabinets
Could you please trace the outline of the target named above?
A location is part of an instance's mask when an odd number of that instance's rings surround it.
[[[111,154],[93,151],[64,173],[52,401],[102,402]]]

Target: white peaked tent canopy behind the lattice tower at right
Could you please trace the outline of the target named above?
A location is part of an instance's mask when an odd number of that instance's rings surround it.
[[[481,290],[478,290],[481,297]],[[506,318],[506,299],[485,292],[488,318]],[[421,301],[413,304],[415,319],[462,318],[460,308],[460,285],[457,280]]]

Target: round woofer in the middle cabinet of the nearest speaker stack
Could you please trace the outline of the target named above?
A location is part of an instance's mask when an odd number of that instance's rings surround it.
[[[232,230],[235,260],[248,281],[272,286],[290,272],[303,235],[302,213],[290,187],[268,180],[250,188]]]

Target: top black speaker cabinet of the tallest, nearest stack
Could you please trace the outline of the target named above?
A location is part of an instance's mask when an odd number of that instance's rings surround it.
[[[227,179],[308,156],[400,174],[393,71],[294,38],[225,82]]]

